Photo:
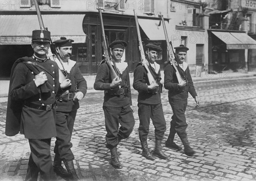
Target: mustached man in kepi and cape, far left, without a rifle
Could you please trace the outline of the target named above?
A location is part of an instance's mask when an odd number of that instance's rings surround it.
[[[50,155],[51,138],[56,136],[55,94],[61,91],[58,66],[47,57],[50,32],[32,32],[32,57],[17,59],[11,71],[6,113],[6,135],[24,134],[30,156],[25,180],[55,178]],[[69,81],[63,82],[67,87]]]

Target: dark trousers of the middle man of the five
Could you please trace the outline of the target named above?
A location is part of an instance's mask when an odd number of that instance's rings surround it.
[[[103,106],[105,114],[106,142],[109,148],[116,147],[119,140],[130,136],[134,127],[134,116],[130,105],[124,107]],[[119,127],[119,123],[121,127]]]

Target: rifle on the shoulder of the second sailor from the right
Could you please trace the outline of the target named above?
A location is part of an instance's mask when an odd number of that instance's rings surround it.
[[[142,65],[143,65],[143,66],[145,67],[145,69],[146,69],[149,84],[151,84],[152,82],[154,82],[155,84],[157,84],[156,80],[154,79],[153,75],[151,74],[151,72],[150,72],[149,69],[148,69],[149,63],[148,63],[148,60],[147,60],[146,57],[145,57],[144,48],[143,48],[143,43],[142,43],[141,36],[140,36],[140,27],[139,27],[139,23],[138,23],[138,17],[137,17],[137,13],[135,12],[135,9],[134,9],[134,17],[135,17],[136,28],[137,28],[137,34],[138,34],[138,40],[139,40],[139,51],[140,51],[141,63],[142,63]]]

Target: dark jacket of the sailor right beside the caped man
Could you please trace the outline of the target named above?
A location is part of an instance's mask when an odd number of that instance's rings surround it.
[[[76,93],[76,91],[80,91],[84,94],[87,92],[87,82],[82,76],[77,63],[71,68],[70,73],[68,74],[68,78],[71,81],[71,86],[69,89],[69,93]],[[68,95],[66,95],[68,96]],[[79,108],[79,102],[73,100],[62,100],[60,101],[60,97],[57,99],[57,111],[59,112],[71,112],[73,110],[77,110]]]

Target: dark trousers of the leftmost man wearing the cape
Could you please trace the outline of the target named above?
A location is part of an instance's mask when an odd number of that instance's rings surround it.
[[[26,181],[37,181],[38,173],[45,181],[54,180],[50,153],[51,139],[29,139],[30,156],[26,174]]]

